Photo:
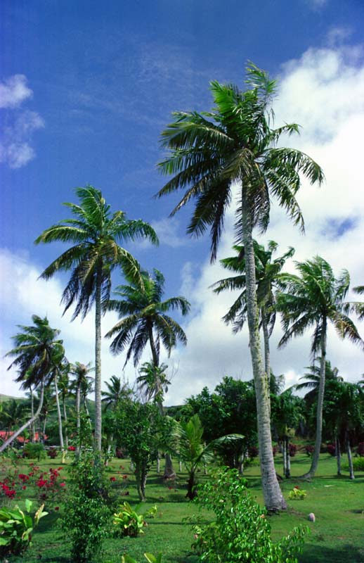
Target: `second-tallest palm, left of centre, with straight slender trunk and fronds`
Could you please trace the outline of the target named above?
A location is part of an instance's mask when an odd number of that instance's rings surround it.
[[[125,213],[110,215],[101,192],[93,186],[75,189],[80,205],[65,203],[72,219],[54,224],[46,229],[35,243],[60,241],[73,243],[58,256],[41,277],[49,279],[60,270],[72,270],[70,281],[63,291],[65,311],[75,305],[72,320],[82,318],[95,303],[95,440],[101,448],[101,303],[108,301],[111,289],[111,271],[122,265],[129,277],[139,277],[138,262],[118,244],[145,236],[157,243],[157,235],[142,220],[126,220]]]

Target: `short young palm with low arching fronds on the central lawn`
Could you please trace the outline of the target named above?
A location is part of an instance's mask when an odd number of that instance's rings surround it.
[[[188,422],[174,421],[170,436],[170,449],[185,464],[188,472],[186,497],[193,500],[196,496],[196,473],[198,467],[211,462],[214,458],[214,450],[222,445],[242,440],[240,434],[228,434],[212,440],[207,445],[202,439],[204,433],[198,415],[193,415]]]

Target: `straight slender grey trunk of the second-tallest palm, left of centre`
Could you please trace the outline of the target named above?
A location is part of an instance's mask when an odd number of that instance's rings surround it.
[[[101,451],[101,265],[96,274],[95,290],[95,443]]]

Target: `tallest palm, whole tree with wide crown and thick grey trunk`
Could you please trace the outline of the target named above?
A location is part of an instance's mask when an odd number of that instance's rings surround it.
[[[282,134],[298,132],[296,124],[272,129],[271,100],[275,81],[250,64],[247,90],[212,82],[214,110],[209,113],[176,112],[175,120],[162,132],[162,146],[170,153],[160,163],[165,175],[173,175],[158,196],[186,188],[171,215],[195,198],[188,233],[196,236],[211,227],[211,258],[223,230],[225,212],[239,186],[236,210],[236,239],[245,248],[247,277],[247,321],[252,356],[259,429],[259,455],[264,502],[269,510],[285,508],[271,442],[269,397],[259,342],[259,315],[252,232],[265,230],[269,222],[271,196],[287,210],[295,224],[304,226],[296,194],[301,175],[311,183],[323,182],[323,172],[311,158],[293,148],[278,148]]]

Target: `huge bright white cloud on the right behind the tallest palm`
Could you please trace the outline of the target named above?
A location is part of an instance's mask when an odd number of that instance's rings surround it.
[[[270,227],[260,239],[277,241],[278,253],[294,246],[296,260],[319,254],[337,275],[347,268],[352,286],[363,284],[364,255],[361,170],[364,66],[359,53],[360,49],[345,46],[309,49],[301,58],[282,66],[279,96],[275,101],[276,124],[283,120],[299,122],[301,135],[286,139],[285,144],[300,148],[320,163],[326,179],[321,188],[307,182],[301,188],[299,203],[306,223],[304,236],[273,202]],[[231,224],[229,216],[219,258],[231,255]],[[294,271],[293,260],[287,263],[287,271]],[[252,377],[246,329],[235,336],[221,322],[234,297],[216,296],[208,289],[225,274],[218,264],[211,266],[208,260],[203,265],[191,262],[183,267],[183,289],[194,296],[195,316],[185,327],[188,348],[176,354],[181,385],[171,388],[170,403],[197,393],[204,385],[214,388],[224,374],[242,379]],[[364,324],[358,323],[358,327],[364,338]],[[280,334],[278,326],[271,343],[272,367],[275,374],[285,374],[286,384],[290,386],[310,364],[311,335],[301,336],[284,350],[277,350]],[[350,381],[357,381],[364,372],[363,351],[339,339],[333,329],[329,331],[327,358]]]

